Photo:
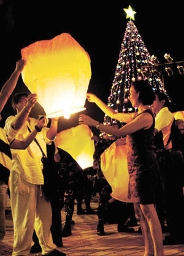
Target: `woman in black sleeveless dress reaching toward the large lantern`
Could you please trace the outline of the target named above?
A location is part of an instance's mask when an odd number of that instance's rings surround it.
[[[121,137],[127,135],[129,194],[134,209],[140,218],[145,242],[144,256],[163,256],[163,236],[155,210],[158,163],[153,145],[155,116],[150,105],[155,95],[147,81],[133,82],[129,99],[137,113],[117,113],[93,94],[87,94],[90,102],[96,103],[105,114],[126,125],[117,129],[80,115],[80,124],[94,126],[107,134]]]

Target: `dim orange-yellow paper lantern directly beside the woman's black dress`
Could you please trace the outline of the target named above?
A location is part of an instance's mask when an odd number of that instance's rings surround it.
[[[112,198],[123,202],[131,202],[128,198],[129,174],[126,145],[116,146],[113,142],[101,154],[101,169],[112,188]]]

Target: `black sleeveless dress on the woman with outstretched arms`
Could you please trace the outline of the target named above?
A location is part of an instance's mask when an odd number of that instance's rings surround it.
[[[140,114],[143,113],[150,113],[153,116],[152,126],[127,135],[128,198],[139,204],[154,204],[159,183],[158,162],[153,143],[155,116],[151,110],[145,110]]]

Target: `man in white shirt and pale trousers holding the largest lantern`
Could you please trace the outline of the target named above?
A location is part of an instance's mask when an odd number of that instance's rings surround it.
[[[6,120],[4,129],[11,137],[24,140],[33,129],[37,129],[37,120],[29,113],[37,102],[36,94],[17,94],[12,98],[16,116]],[[52,143],[58,128],[58,119],[52,119],[50,129],[39,130],[36,139],[46,152],[46,144]],[[28,255],[31,249],[33,231],[36,230],[42,247],[42,255],[65,255],[56,250],[53,244],[50,226],[52,209],[50,202],[42,193],[44,176],[41,162],[42,152],[36,142],[26,150],[12,150],[12,169],[10,172],[10,193],[14,225],[14,242],[12,255]]]

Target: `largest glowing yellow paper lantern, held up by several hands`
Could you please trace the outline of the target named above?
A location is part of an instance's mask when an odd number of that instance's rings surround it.
[[[90,57],[70,34],[37,41],[21,49],[26,60],[22,78],[36,93],[48,118],[85,110],[91,78]]]

